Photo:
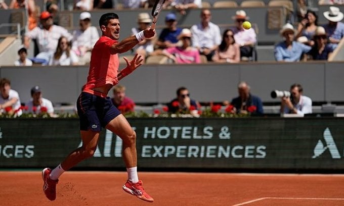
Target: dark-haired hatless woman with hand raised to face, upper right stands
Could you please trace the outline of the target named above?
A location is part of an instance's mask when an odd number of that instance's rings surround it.
[[[300,23],[298,23],[295,39],[301,36],[307,37],[308,41],[305,42],[306,45],[314,45],[312,37],[315,30],[318,27],[318,15],[311,10],[307,11],[306,18],[304,18]]]

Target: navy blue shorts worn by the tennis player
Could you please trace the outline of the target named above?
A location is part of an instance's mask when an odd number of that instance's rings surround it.
[[[80,130],[101,131],[102,127],[120,115],[119,110],[112,104],[110,97],[100,97],[87,92],[81,92],[76,101],[77,114],[80,120]]]

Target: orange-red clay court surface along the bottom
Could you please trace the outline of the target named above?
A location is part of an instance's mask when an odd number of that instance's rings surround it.
[[[40,172],[0,172],[0,205],[344,205],[344,175],[141,172],[145,202],[122,190],[124,172],[66,172],[57,198],[42,192]]]

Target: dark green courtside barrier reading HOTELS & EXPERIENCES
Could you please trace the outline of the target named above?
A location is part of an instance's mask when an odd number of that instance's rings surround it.
[[[343,170],[343,118],[136,118],[140,168]],[[56,166],[81,145],[77,119],[1,119],[0,168]],[[76,168],[124,168],[122,141],[103,130]]]

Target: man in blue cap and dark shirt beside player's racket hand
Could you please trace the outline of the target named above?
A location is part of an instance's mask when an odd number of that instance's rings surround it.
[[[165,24],[166,28],[162,29],[155,43],[157,50],[152,55],[160,55],[162,49],[177,46],[179,41],[177,37],[182,31],[182,28],[177,27],[177,16],[174,13],[167,14]]]

